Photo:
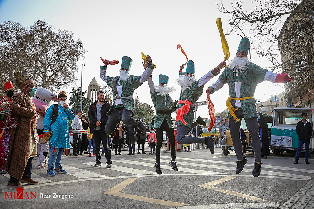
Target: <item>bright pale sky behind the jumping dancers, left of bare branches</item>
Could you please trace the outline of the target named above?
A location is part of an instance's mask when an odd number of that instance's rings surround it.
[[[228,2],[228,1],[226,1]],[[199,79],[216,67],[223,59],[216,18],[221,17],[224,32],[231,28],[228,17],[219,13],[215,1],[16,1],[0,0],[0,23],[6,20],[19,22],[24,27],[32,25],[36,19],[44,19],[52,27],[73,31],[75,37],[82,39],[86,49],[85,58],[77,63],[78,77],[81,83],[81,64],[83,67],[83,90],[86,90],[93,77],[100,79],[100,56],[107,60],[120,60],[122,56],[133,59],[130,74],[141,75],[143,72],[141,52],[149,54],[157,68],[153,72],[153,81],[158,82],[159,74],[170,77],[169,85],[177,91],[171,95],[178,99],[180,88],[175,84],[180,65],[185,57],[179,49],[180,44],[190,60],[195,62],[195,74]],[[244,31],[248,33],[248,31]],[[235,54],[241,39],[237,35],[226,37],[230,47],[230,59]],[[258,41],[258,40],[251,40]],[[252,62],[267,65],[265,60],[256,56],[251,49]],[[108,76],[119,74],[120,64],[108,67]],[[210,80],[204,87],[204,93],[198,101],[206,100],[205,89],[217,80]],[[74,79],[74,78],[73,78]],[[273,86],[264,81],[257,86],[256,99],[267,100],[284,90],[283,85]],[[69,90],[70,88],[65,88]],[[222,112],[226,106],[228,85],[215,92],[211,98],[216,112]],[[153,105],[147,83],[140,86],[138,93],[141,102]],[[208,117],[206,106],[198,108],[198,115]],[[174,117],[175,115],[173,115]]]

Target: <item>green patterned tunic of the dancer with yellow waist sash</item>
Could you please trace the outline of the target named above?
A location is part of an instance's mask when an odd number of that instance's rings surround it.
[[[257,84],[264,81],[265,74],[268,70],[261,68],[260,66],[250,62],[247,65],[247,69],[243,73],[239,72],[239,79],[241,81],[240,98],[251,97],[254,95]],[[235,80],[238,80],[235,76],[235,72],[232,69],[226,67],[219,79],[229,85],[230,97],[236,97]],[[241,108],[243,109],[244,118],[257,117],[255,99],[240,100]],[[235,106],[236,100],[231,100],[231,104]],[[231,118],[230,112],[228,112],[228,118]]]

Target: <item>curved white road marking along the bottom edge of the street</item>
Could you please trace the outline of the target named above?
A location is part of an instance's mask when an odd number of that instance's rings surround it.
[[[265,207],[278,207],[276,202],[243,202],[243,203],[225,203],[225,204],[211,204],[211,205],[198,205],[198,206],[182,206],[170,209],[249,209],[249,208],[265,208]]]

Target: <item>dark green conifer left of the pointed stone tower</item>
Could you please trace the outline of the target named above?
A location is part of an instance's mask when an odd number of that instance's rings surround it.
[[[72,92],[70,92],[71,97],[69,98],[69,103],[68,105],[71,106],[71,110],[74,114],[81,109],[81,87],[72,87]],[[88,112],[89,105],[91,104],[91,99],[87,99],[85,97],[86,91],[82,92],[82,108],[83,108],[83,114]]]

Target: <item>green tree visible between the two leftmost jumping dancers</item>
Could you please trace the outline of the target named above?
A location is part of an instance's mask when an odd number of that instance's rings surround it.
[[[155,115],[154,110],[152,109],[153,107],[150,106],[147,103],[141,103],[139,101],[139,98],[136,94],[135,96],[135,108],[134,108],[134,118],[141,119],[145,118],[146,119],[146,124],[149,126],[149,123],[151,122],[151,119]]]

